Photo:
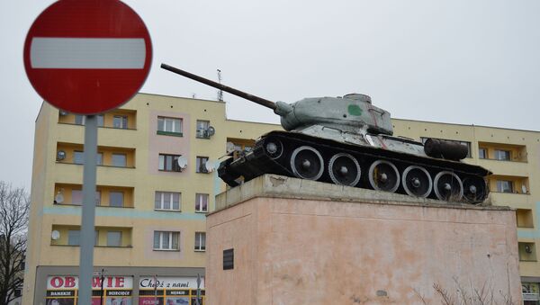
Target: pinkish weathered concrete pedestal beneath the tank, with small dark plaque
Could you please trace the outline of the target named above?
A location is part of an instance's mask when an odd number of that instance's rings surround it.
[[[439,304],[442,294],[521,303],[516,215],[506,207],[277,175],[221,193],[216,207],[210,305]],[[234,265],[224,270],[229,249]]]

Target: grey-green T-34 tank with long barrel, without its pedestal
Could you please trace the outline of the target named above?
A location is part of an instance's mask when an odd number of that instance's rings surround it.
[[[184,70],[162,68],[268,107],[287,131],[271,131],[240,157],[218,168],[230,186],[276,174],[446,202],[483,202],[488,195],[481,166],[460,162],[468,148],[428,139],[425,144],[392,136],[390,113],[365,94],[271,102]]]

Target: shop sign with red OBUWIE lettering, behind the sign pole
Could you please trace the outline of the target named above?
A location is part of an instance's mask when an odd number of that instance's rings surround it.
[[[103,282],[103,285],[102,285]],[[102,289],[103,287],[103,289]],[[133,277],[104,276],[92,281],[92,305],[131,305]],[[75,305],[78,297],[78,277],[72,275],[47,278],[46,305]]]

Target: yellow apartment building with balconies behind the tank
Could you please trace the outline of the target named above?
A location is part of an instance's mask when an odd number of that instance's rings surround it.
[[[516,209],[524,296],[538,303],[540,132],[393,124],[395,135],[461,141],[470,148],[464,162],[491,170],[487,202]],[[83,125],[48,103],[36,120],[23,304],[76,302]],[[281,126],[227,120],[222,102],[157,94],[136,95],[98,125],[94,302],[103,292],[106,304],[194,304],[197,275],[203,294],[205,215],[226,188],[214,168],[228,146],[248,149]]]

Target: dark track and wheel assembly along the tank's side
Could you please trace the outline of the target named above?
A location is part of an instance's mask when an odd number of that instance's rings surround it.
[[[272,131],[252,151],[221,162],[220,178],[230,186],[275,174],[446,202],[483,202],[488,195],[481,166],[421,157],[383,148],[347,145],[298,132]]]

